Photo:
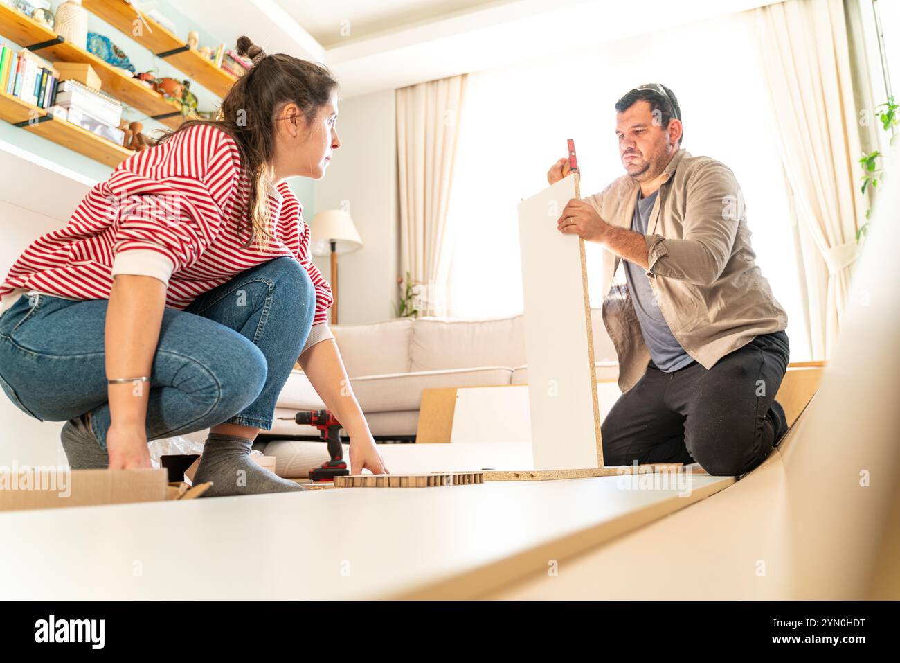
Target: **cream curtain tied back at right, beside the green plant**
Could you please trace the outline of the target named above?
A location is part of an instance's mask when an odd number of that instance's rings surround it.
[[[819,300],[810,307],[813,356],[827,359],[850,295],[851,267],[860,255],[856,232],[866,209],[844,5],[788,0],[752,14],[800,234],[816,249],[804,252],[806,274],[818,276],[809,281],[810,299]]]

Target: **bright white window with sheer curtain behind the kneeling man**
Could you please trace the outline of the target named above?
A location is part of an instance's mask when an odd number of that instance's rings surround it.
[[[613,106],[632,87],[662,82],[679,99],[682,147],[734,170],[757,262],[788,311],[791,359],[808,359],[796,229],[753,38],[750,23],[734,14],[561,53],[551,63],[470,74],[447,213],[449,314],[522,311],[516,204],[546,186],[568,138],[578,150],[582,195],[624,174]],[[604,251],[590,243],[587,250],[591,304],[599,306]]]

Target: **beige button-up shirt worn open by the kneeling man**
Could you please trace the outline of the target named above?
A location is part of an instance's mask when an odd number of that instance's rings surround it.
[[[646,274],[681,347],[712,368],[756,336],[784,330],[788,314],[754,262],[746,205],[731,168],[710,157],[691,157],[682,148],[664,172],[644,235]],[[583,200],[607,223],[630,230],[639,186],[624,175]],[[605,262],[603,322],[616,347],[618,384],[625,392],[644,376],[650,350],[627,286],[613,284],[619,260]]]

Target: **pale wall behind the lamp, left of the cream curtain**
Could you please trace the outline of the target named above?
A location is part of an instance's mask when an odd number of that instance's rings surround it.
[[[338,137],[328,172],[316,183],[317,211],[345,208],[363,248],[338,257],[338,322],[394,317],[400,234],[394,91],[356,96],[338,105]],[[311,216],[304,214],[313,226]],[[329,257],[313,260],[329,282]]]

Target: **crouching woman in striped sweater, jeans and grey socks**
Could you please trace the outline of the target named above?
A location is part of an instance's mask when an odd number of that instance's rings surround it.
[[[23,251],[0,285],[0,386],[66,421],[72,468],[149,468],[148,440],[211,427],[207,495],[302,490],[250,458],[300,364],[350,437],[383,461],[329,332],[329,284],[287,177],[320,179],[340,147],[326,68],[266,56],[223,100],[94,186],[68,225]]]

